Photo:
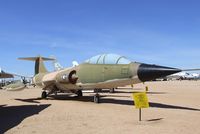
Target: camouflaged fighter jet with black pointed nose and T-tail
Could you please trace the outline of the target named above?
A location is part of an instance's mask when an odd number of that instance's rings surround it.
[[[170,74],[181,72],[181,69],[131,62],[126,57],[116,54],[94,56],[84,63],[62,70],[48,72],[43,61],[54,60],[45,57],[26,57],[21,60],[35,61],[33,83],[44,91],[41,97],[56,92],[71,92],[82,96],[82,90],[113,89],[131,85]],[[94,95],[94,102],[99,103],[100,96]]]

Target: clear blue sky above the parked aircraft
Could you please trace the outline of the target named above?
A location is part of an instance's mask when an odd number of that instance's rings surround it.
[[[71,66],[101,53],[178,68],[200,67],[198,0],[1,0],[0,61],[33,74],[24,56]],[[47,63],[51,70],[51,64]]]

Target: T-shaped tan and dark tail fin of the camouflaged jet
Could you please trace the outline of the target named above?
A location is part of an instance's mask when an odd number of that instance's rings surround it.
[[[48,72],[46,67],[44,66],[43,61],[48,61],[48,60],[55,60],[53,58],[45,58],[41,56],[37,57],[24,57],[24,58],[18,58],[19,60],[29,60],[29,61],[35,61],[35,75],[38,73],[46,73]]]

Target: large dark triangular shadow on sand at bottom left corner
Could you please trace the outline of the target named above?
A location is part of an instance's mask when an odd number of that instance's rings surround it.
[[[25,118],[39,114],[40,111],[49,107],[45,105],[22,105],[22,106],[0,106],[0,133],[17,126]]]

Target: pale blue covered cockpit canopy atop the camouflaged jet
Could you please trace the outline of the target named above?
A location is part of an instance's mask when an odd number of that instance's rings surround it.
[[[129,64],[129,61],[126,57],[120,56],[117,54],[101,54],[94,56],[85,61],[89,64]]]

